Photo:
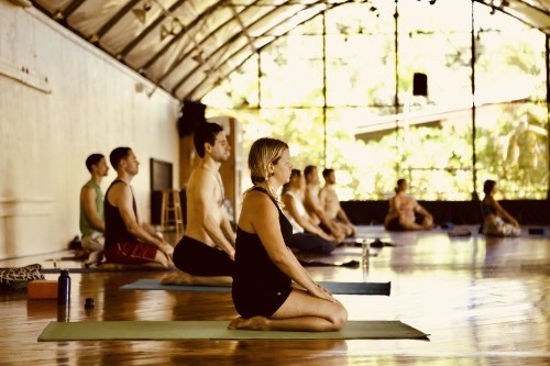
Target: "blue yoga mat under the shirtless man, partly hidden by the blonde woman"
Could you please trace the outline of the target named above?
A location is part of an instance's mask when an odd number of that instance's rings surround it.
[[[319,285],[334,295],[386,295],[389,296],[392,282],[326,282]],[[123,290],[173,290],[173,291],[207,291],[229,292],[231,287],[227,286],[189,286],[189,285],[161,285],[158,279],[142,278],[135,282],[121,287]]]

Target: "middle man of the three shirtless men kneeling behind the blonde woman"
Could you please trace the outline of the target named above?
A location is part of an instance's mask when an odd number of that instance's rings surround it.
[[[306,211],[316,224],[336,239],[337,243],[342,243],[345,237],[343,228],[329,219],[319,201],[319,197],[316,191],[316,186],[319,182],[317,167],[308,165],[304,169],[304,176],[306,177],[306,192],[304,198]]]

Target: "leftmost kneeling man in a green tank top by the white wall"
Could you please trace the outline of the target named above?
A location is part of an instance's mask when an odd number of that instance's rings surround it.
[[[101,262],[105,247],[103,191],[101,180],[107,176],[107,166],[102,154],[91,154],[86,158],[90,179],[80,189],[80,233],[82,248],[88,253],[86,265]]]

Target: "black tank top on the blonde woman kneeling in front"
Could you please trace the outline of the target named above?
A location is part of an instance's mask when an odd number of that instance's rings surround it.
[[[265,189],[261,187],[254,187],[253,190],[267,195]],[[283,211],[280,211],[277,202],[270,195],[267,196],[273,204],[277,207],[280,232],[286,246],[288,246],[293,236],[293,225],[286,219]],[[233,287],[237,286],[241,289],[249,288],[251,290],[257,288],[280,289],[289,287],[290,284],[290,278],[273,264],[265,247],[260,241],[260,236],[257,234],[248,233],[238,226]]]

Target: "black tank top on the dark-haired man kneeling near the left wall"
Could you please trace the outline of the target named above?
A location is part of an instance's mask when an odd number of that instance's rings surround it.
[[[103,211],[105,211],[105,246],[106,248],[114,245],[117,243],[122,242],[134,242],[136,239],[134,235],[130,234],[127,230],[127,225],[124,224],[124,220],[122,220],[122,215],[120,214],[119,208],[109,203],[107,199],[109,191],[112,186],[118,182],[127,184],[123,180],[116,179],[107,190],[103,200]],[[135,219],[138,219],[138,209],[135,206],[135,198],[132,195],[132,208],[134,211]]]

